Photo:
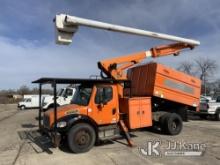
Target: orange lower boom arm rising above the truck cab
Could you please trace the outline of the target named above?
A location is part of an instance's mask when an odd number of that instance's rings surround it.
[[[135,54],[130,54],[122,57],[115,57],[98,62],[98,67],[101,70],[101,76],[103,72],[109,78],[116,80],[125,80],[127,75],[124,72],[129,67],[142,62],[147,57],[162,57],[167,55],[178,55],[183,49],[193,49],[194,46],[186,43],[174,43],[169,45],[162,45],[151,48],[148,51],[143,51]]]

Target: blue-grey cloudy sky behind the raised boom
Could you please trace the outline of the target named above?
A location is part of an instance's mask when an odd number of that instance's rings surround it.
[[[71,45],[56,45],[52,20],[59,13],[193,38],[199,47],[159,62],[175,68],[203,56],[220,65],[219,8],[219,0],[1,0],[0,89],[31,86],[40,77],[87,78],[99,74],[101,59],[166,43],[80,27]]]

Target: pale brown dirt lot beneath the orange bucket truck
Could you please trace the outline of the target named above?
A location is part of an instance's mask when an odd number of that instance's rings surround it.
[[[63,145],[53,148],[38,132],[37,110],[17,110],[16,105],[0,105],[0,165],[68,164],[220,164],[220,122],[194,118],[184,123],[182,133],[167,136],[142,129],[132,132],[135,147],[124,139],[107,141],[84,154],[72,154]],[[146,143],[159,140],[160,156],[140,152]],[[203,144],[203,156],[164,156],[169,141]]]

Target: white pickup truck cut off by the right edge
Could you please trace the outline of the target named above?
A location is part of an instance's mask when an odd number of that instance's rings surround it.
[[[208,116],[214,117],[216,120],[220,120],[220,96],[215,100],[201,96],[200,98],[200,111],[194,112],[194,115],[200,116],[202,119],[206,119]]]

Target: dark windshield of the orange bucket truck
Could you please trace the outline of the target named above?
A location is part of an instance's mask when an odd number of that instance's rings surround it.
[[[89,104],[90,96],[92,94],[92,87],[79,86],[72,99],[72,104],[86,106]]]

